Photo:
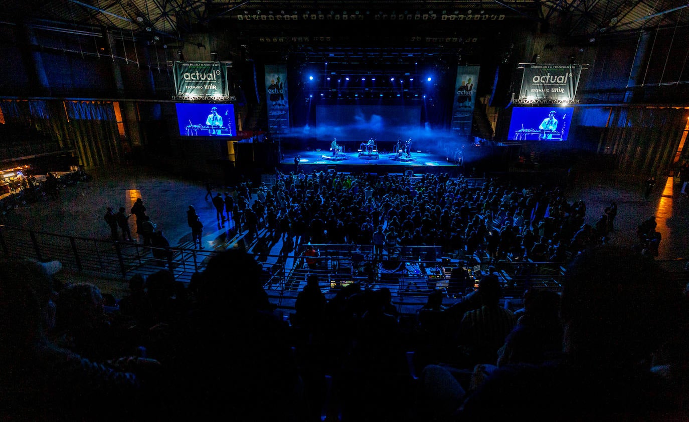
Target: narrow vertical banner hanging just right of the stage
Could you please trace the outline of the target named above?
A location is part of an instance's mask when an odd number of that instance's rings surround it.
[[[476,100],[478,71],[480,66],[457,66],[455,81],[455,103],[452,107],[452,130],[469,139],[471,120]]]

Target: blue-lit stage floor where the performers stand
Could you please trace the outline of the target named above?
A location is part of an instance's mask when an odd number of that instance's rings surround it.
[[[280,161],[282,171],[294,171],[294,159],[297,156],[300,156],[299,164],[305,173],[327,170],[332,166],[335,166],[337,171],[367,173],[403,173],[410,168],[413,173],[454,173],[460,170],[460,166],[448,162],[447,157],[433,153],[412,153],[411,157],[399,157],[392,153],[376,152],[369,155],[353,151],[333,157],[330,151],[301,150],[283,151]]]

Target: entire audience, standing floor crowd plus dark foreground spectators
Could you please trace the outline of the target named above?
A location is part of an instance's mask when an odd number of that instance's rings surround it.
[[[530,289],[524,309],[511,311],[491,267],[462,301],[444,306],[446,295],[433,291],[416,315],[400,315],[389,289],[351,284],[326,300],[311,273],[286,315],[268,300],[267,274],[240,249],[210,258],[188,286],[167,269],[134,276],[118,302],[94,285],[61,283],[40,263],[6,259],[1,417],[689,417],[687,299],[652,254],[606,245],[616,204],[592,226],[585,204],[557,189],[470,186],[447,175],[298,173],[258,191],[249,205],[248,186],[239,186],[232,210],[216,201],[218,223],[244,224],[250,236],[265,225],[292,248],[361,243],[393,256],[437,245],[495,263],[555,261],[569,266],[564,290]],[[193,208],[187,217],[196,230]],[[640,238],[655,236],[655,225],[643,225]]]

